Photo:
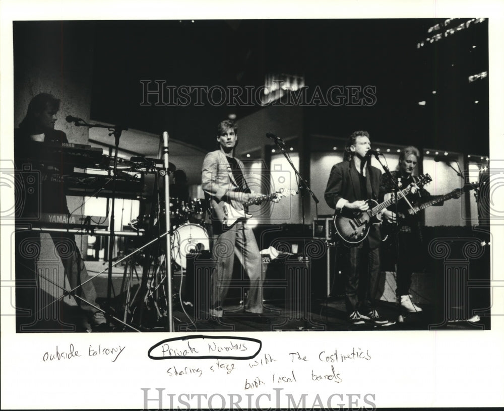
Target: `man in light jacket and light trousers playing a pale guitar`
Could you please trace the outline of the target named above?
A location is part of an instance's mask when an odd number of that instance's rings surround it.
[[[263,313],[263,274],[261,254],[253,231],[238,219],[228,225],[231,211],[242,212],[243,203],[263,194],[251,192],[244,178],[243,163],[234,158],[237,126],[233,121],[224,120],[217,126],[219,150],[205,156],[202,167],[202,188],[209,203],[209,215],[213,229],[213,256],[217,269],[212,273],[212,295],[210,316],[213,319],[223,315],[222,305],[226,298],[233,273],[236,254],[250,279],[250,289],[244,302],[246,318],[257,322],[268,322]],[[273,199],[278,201],[278,198]]]

